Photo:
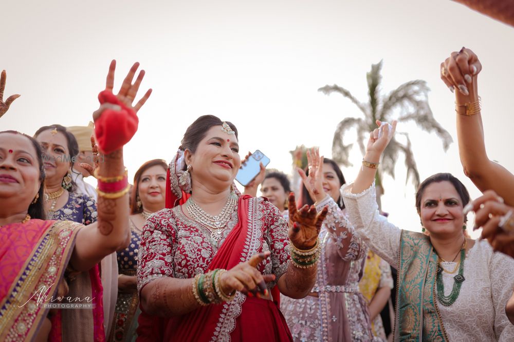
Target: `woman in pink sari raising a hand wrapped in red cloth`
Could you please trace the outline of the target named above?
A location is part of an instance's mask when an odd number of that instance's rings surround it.
[[[98,221],[87,227],[45,219],[47,156],[32,137],[0,132],[0,341],[105,340],[100,275],[89,271],[124,248],[130,236],[122,148],[134,135],[136,112],[150,95],[132,106],[144,75],[132,85],[137,68],[135,64],[114,95],[111,63],[106,90],[99,95],[101,106],[93,114],[104,155],[97,171]],[[0,109],[4,84],[2,79]],[[116,141],[109,140],[113,132],[118,133]],[[57,303],[66,309],[51,308]]]

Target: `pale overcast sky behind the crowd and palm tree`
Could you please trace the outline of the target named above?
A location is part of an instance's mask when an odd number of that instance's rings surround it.
[[[439,78],[440,63],[462,46],[483,65],[479,93],[489,158],[514,171],[514,28],[451,1],[49,0],[4,2],[2,12],[4,97],[22,95],[0,119],[2,130],[33,134],[54,123],[87,125],[111,59],[118,63],[115,89],[140,62],[141,95],[153,93],[124,149],[129,177],[146,160],[169,162],[186,128],[204,114],[233,122],[242,153],[260,149],[270,168],[290,173],[288,151],[301,144],[330,157],[337,123],[361,113],[342,96],[317,89],[338,84],[366,102],[366,72],[383,59],[382,94],[424,79],[434,116],[454,139],[444,152],[435,135],[398,126],[410,134],[421,179],[451,172],[478,197],[458,158],[454,98]],[[348,134],[345,142],[354,138]],[[358,148],[351,156],[354,166],[342,169],[347,180],[362,159]],[[384,188],[391,222],[420,230],[402,156]]]

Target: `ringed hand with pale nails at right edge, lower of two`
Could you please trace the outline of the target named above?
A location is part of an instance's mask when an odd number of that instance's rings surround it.
[[[488,240],[495,251],[514,258],[514,208],[503,203],[503,199],[492,190],[470,202],[465,210],[475,212],[473,229],[482,227],[482,238]]]

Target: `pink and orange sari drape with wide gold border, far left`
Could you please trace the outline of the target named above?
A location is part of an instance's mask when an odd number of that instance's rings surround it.
[[[32,219],[0,229],[0,340],[31,340],[57,293],[82,225]]]

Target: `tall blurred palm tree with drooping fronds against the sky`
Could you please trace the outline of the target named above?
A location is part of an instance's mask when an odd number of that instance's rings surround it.
[[[427,83],[416,79],[415,81],[402,84],[387,96],[381,97],[379,90],[380,81],[382,79],[380,75],[381,68],[382,61],[378,64],[373,64],[371,71],[366,74],[370,95],[369,103],[361,103],[350,91],[338,85],[326,85],[318,89],[318,91],[326,95],[333,92],[340,93],[350,99],[364,114],[364,117],[345,117],[337,125],[332,141],[333,159],[344,166],[351,166],[352,164],[348,160],[348,156],[353,144],[344,145],[344,132],[350,128],[356,128],[357,142],[362,154],[364,154],[364,141],[368,138],[369,132],[377,127],[375,124],[377,119],[383,122],[392,122],[393,119],[397,119],[398,122],[408,122],[412,120],[421,129],[427,132],[435,132],[437,136],[443,140],[443,148],[447,151],[453,139],[450,133],[439,125],[432,114],[432,110],[428,104],[428,91],[430,89],[427,87]],[[397,133],[406,137],[406,143],[402,144],[393,137],[391,143],[389,143],[382,154],[380,170],[394,178],[394,167],[398,160],[398,155],[401,152],[405,156],[405,165],[407,166],[406,182],[408,182],[409,177],[411,177],[414,186],[417,188],[419,185],[419,173],[416,168],[409,134],[404,132]],[[379,172],[376,174],[375,184],[379,188],[382,186],[382,174]]]

